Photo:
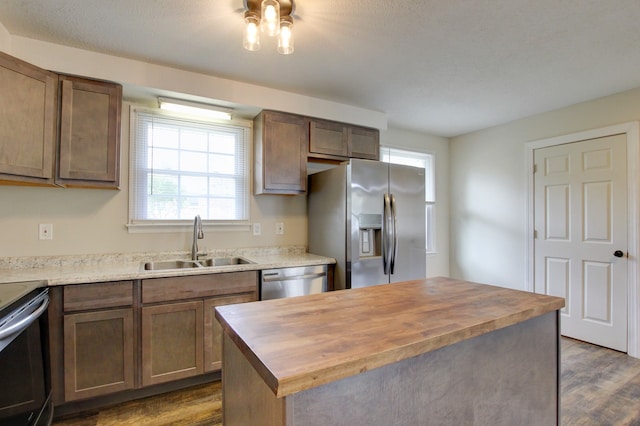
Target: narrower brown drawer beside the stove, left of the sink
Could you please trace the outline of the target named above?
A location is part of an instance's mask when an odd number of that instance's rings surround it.
[[[67,285],[63,289],[65,312],[133,305],[133,281]]]

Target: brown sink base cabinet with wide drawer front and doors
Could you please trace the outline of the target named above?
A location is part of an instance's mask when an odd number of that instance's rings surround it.
[[[213,310],[258,300],[257,279],[247,271],[143,280],[142,386],[220,370],[222,329]]]

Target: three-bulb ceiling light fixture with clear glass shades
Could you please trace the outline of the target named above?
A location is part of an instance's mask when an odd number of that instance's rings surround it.
[[[245,49],[260,49],[260,32],[270,37],[278,36],[278,52],[283,55],[293,53],[293,0],[244,0]]]

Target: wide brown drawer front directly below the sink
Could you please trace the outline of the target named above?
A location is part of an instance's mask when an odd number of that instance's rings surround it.
[[[256,271],[151,278],[142,281],[142,303],[257,292],[257,278]]]

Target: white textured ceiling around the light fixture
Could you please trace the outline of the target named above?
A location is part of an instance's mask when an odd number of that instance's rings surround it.
[[[454,136],[640,87],[638,0],[296,0],[295,53],[243,0],[2,0],[12,35],[387,114]]]

